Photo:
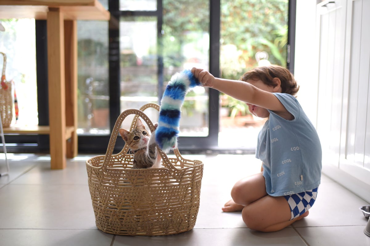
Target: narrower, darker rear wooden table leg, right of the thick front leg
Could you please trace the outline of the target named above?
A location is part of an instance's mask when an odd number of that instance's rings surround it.
[[[73,126],[71,138],[67,140],[67,157],[78,154],[77,146],[77,21],[64,21],[65,51],[65,119]]]

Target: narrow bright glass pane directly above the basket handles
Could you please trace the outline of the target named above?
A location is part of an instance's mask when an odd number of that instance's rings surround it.
[[[121,111],[158,103],[157,18],[122,17],[120,50]],[[129,129],[133,117],[129,115],[122,127]],[[158,112],[148,117],[157,122]]]

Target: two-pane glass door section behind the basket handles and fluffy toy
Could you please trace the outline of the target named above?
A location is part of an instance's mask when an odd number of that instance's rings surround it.
[[[209,70],[208,0],[120,1],[119,7],[121,112],[146,103],[159,104],[175,73],[192,67]],[[182,106],[179,148],[196,146],[200,138],[207,141],[208,109],[208,88],[188,92]],[[152,122],[158,121],[158,112],[148,114]],[[122,127],[129,128],[132,118]]]

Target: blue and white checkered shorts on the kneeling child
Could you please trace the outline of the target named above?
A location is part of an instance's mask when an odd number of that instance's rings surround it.
[[[301,193],[284,196],[290,206],[290,211],[292,212],[290,220],[304,214],[312,207],[316,200],[318,188],[319,187],[303,191]]]

